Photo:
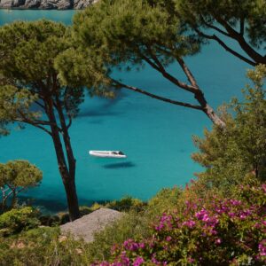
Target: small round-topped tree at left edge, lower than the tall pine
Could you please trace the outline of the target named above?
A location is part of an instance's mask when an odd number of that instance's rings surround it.
[[[0,190],[2,191],[1,208],[7,207],[7,200],[12,198],[12,206],[16,205],[18,193],[35,187],[43,179],[43,173],[27,160],[10,160],[0,163]]]

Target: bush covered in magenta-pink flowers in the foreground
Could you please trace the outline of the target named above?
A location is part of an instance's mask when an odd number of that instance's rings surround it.
[[[152,238],[128,239],[113,246],[112,262],[94,265],[265,265],[265,218],[266,184],[242,185],[235,199],[188,198],[160,216]]]

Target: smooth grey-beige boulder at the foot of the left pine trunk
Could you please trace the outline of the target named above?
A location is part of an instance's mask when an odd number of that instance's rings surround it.
[[[61,233],[63,235],[71,233],[74,239],[84,239],[86,242],[91,242],[95,232],[103,230],[106,225],[113,223],[113,221],[121,218],[122,215],[122,213],[110,208],[100,208],[72,223],[61,225]]]

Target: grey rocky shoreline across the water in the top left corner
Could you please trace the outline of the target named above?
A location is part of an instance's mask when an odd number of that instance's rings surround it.
[[[17,9],[83,9],[98,0],[0,0],[0,8]]]

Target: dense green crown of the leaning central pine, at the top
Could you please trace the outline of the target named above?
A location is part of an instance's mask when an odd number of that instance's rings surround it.
[[[119,87],[111,77],[113,66],[129,71],[160,62],[165,67],[199,51],[191,36],[182,34],[177,17],[142,0],[100,1],[77,13],[72,38],[73,47],[57,60],[60,78],[92,90]],[[158,65],[154,68],[161,71]]]

